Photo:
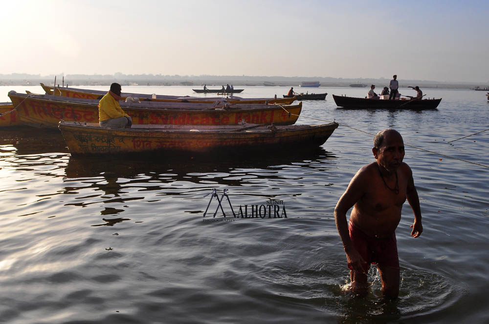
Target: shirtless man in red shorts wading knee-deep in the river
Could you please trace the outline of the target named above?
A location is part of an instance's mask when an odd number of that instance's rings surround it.
[[[421,208],[411,168],[404,162],[404,142],[394,129],[385,129],[374,138],[372,148],[376,162],[363,166],[334,208],[334,219],[346,252],[351,289],[359,295],[368,292],[367,273],[377,263],[382,294],[399,295],[399,258],[396,227],[403,203],[414,212],[411,236],[421,235]],[[346,213],[353,206],[350,223]]]

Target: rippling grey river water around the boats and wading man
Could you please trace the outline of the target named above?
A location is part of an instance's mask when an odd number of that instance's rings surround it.
[[[413,84],[415,85],[415,84]],[[108,87],[92,87],[104,89]],[[238,87],[236,87],[238,88]],[[296,90],[299,90],[297,88]],[[380,88],[379,88],[380,89]],[[0,87],[41,93],[41,87]],[[281,97],[286,87],[245,87]],[[321,147],[268,154],[73,158],[57,131],[0,129],[0,322],[25,323],[488,323],[489,104],[483,92],[422,89],[433,111],[337,109],[328,92],[304,101],[299,124],[333,121],[400,131],[424,232],[397,229],[400,298],[353,299],[333,209],[374,160],[373,137],[346,126]],[[191,87],[123,87],[193,95]],[[402,94],[413,95],[410,89]],[[460,160],[446,156],[456,157]],[[287,218],[234,219],[240,205],[282,201]],[[249,209],[248,209],[249,213]]]

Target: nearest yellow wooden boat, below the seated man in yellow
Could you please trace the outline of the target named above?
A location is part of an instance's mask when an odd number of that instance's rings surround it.
[[[96,123],[61,121],[59,129],[71,154],[209,152],[219,149],[278,149],[319,146],[338,127],[323,125],[134,125],[102,128]]]

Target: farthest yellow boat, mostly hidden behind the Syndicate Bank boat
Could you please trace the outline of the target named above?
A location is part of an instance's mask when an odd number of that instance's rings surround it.
[[[68,98],[82,98],[82,99],[102,99],[102,97],[107,93],[107,91],[100,90],[89,90],[89,89],[78,89],[71,87],[52,87],[44,85],[41,83],[44,92],[47,95],[68,97]],[[253,103],[277,103],[277,104],[291,104],[293,101],[297,100],[296,97],[293,98],[241,98],[241,97],[214,97],[214,98],[200,98],[200,97],[179,97],[179,96],[167,96],[167,95],[156,95],[156,99],[152,98],[152,95],[142,94],[142,93],[129,93],[123,92],[122,99],[126,100],[127,97],[139,98],[139,100],[145,101],[164,101],[164,102],[200,102],[205,103],[209,101],[220,101],[220,102],[240,102],[243,104],[253,104]]]

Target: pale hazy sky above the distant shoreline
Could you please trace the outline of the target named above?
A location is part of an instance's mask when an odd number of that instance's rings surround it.
[[[489,1],[0,0],[0,74],[489,83]]]

